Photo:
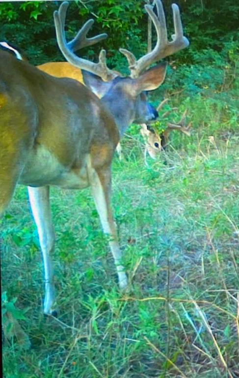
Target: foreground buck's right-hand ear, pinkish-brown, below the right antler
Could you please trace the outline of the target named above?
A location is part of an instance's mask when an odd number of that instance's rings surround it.
[[[143,91],[153,91],[159,88],[166,75],[167,63],[159,63],[155,67],[148,69],[137,79],[134,79],[133,87],[137,95]]]

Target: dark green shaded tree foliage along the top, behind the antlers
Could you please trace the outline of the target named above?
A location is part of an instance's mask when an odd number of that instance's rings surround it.
[[[104,42],[109,60],[120,59],[119,47],[143,54],[147,40],[146,1],[81,0],[71,1],[67,16],[67,35],[71,37],[87,19],[93,17],[92,34],[107,32]],[[151,0],[152,2],[152,0]],[[172,0],[164,0],[169,29],[172,31]],[[57,50],[53,11],[61,1],[0,3],[0,38],[22,48],[33,64],[62,59]],[[235,41],[238,33],[239,3],[235,0],[178,0],[190,49],[178,54],[180,62],[195,63],[198,53],[212,49],[220,53],[225,43]],[[83,51],[93,57],[102,46]]]

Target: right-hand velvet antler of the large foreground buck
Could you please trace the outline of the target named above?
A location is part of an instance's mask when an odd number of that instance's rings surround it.
[[[157,14],[154,12],[154,4],[157,7]],[[157,44],[153,51],[136,60],[133,53],[126,49],[120,49],[128,60],[131,70],[131,77],[137,78],[150,64],[158,62],[160,59],[176,53],[189,45],[188,39],[184,36],[180,11],[177,4],[172,4],[173,21],[175,34],[172,41],[168,41],[167,26],[163,6],[160,0],[155,0],[153,5],[145,5],[145,9],[152,19],[157,32]]]

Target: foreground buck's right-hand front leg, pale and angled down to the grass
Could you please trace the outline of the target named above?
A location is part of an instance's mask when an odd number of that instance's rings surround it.
[[[125,273],[125,268],[122,265],[122,253],[120,251],[116,226],[113,220],[112,210],[110,206],[110,169],[107,168],[106,170],[102,169],[98,171],[92,169],[90,174],[90,184],[103,230],[110,236],[109,247],[116,265],[116,270],[119,278],[119,286],[121,289],[124,289],[128,285],[128,279]]]

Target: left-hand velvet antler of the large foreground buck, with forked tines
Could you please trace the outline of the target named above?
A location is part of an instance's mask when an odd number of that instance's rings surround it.
[[[67,1],[64,1],[60,7],[59,10],[54,11],[54,23],[55,23],[55,31],[56,31],[56,39],[58,46],[66,58],[66,60],[73,65],[85,69],[86,71],[89,71],[91,73],[94,73],[100,77],[102,77],[103,80],[109,81],[114,79],[117,76],[117,73],[113,70],[110,70],[106,65],[106,51],[101,50],[99,55],[99,63],[93,63],[90,61],[87,61],[86,59],[79,58],[74,54],[75,51],[79,50],[82,47],[91,46],[99,41],[102,41],[103,39],[107,38],[107,34],[99,34],[92,38],[87,38],[86,34],[91,28],[91,26],[94,23],[94,20],[88,20],[80,29],[80,31],[77,33],[76,37],[70,41],[66,42],[65,39],[65,33],[64,33],[64,27],[65,27],[65,19],[66,19],[66,11],[68,8],[69,3]]]

